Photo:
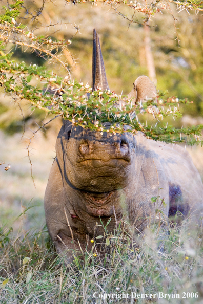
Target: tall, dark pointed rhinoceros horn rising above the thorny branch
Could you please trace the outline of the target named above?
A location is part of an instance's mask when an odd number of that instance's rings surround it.
[[[92,90],[100,87],[101,90],[109,90],[103,57],[99,43],[99,37],[93,30],[93,52],[92,52]]]

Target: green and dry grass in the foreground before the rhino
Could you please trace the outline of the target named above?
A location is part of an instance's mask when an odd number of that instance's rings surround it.
[[[0,303],[201,303],[202,229],[193,228],[186,221],[180,227],[157,224],[135,240],[132,227],[121,222],[113,234],[106,231],[109,241],[94,240],[91,252],[73,251],[74,260],[66,265],[66,256],[55,253],[46,226],[17,235],[2,227]],[[96,241],[104,241],[103,252]],[[155,298],[135,301],[132,292]],[[180,298],[158,298],[159,292]],[[118,299],[122,293],[129,298]],[[115,295],[108,300],[104,294]]]

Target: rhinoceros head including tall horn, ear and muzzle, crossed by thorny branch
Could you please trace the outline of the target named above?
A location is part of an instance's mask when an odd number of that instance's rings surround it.
[[[109,89],[99,38],[93,31],[92,88]],[[154,97],[156,88],[147,76],[134,82],[128,97],[134,102]],[[106,123],[105,128],[110,127]],[[109,192],[124,188],[132,180],[135,168],[136,138],[109,134],[73,126],[64,121],[56,143],[57,161],[66,182],[77,189]],[[105,177],[105,178],[104,178]],[[105,181],[105,182],[104,182]]]

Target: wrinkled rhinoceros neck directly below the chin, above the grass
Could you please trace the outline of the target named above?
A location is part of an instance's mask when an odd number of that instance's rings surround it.
[[[128,219],[128,204],[124,200],[124,190],[113,190],[110,192],[88,192],[85,190],[73,189],[69,185],[64,187],[67,206],[73,221],[77,219],[85,222],[87,232],[94,233],[96,223],[107,225],[109,218],[112,220],[108,229],[114,229],[116,221]],[[100,225],[99,225],[100,226]],[[97,227],[96,234],[104,233],[102,227]]]

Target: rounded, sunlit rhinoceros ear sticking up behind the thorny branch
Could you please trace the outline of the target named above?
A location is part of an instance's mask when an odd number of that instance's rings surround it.
[[[154,98],[157,94],[154,83],[147,76],[139,76],[134,84],[134,89],[128,94],[134,103]]]

